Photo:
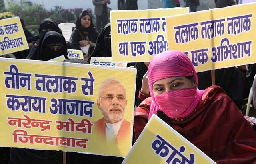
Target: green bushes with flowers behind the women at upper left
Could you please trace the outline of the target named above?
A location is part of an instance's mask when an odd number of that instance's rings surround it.
[[[53,7],[53,9],[48,11],[45,9],[42,2],[32,3],[29,0],[20,0],[20,2],[15,2],[13,0],[9,0],[8,8],[5,8],[4,1],[0,0],[0,20],[19,16],[24,20],[26,29],[31,33],[38,34],[38,27],[41,21],[45,18],[51,18],[56,21],[57,24],[63,22],[75,23],[79,14],[84,11],[83,8],[63,9],[62,6]],[[87,8],[86,11],[88,11],[92,16],[92,19],[95,20],[92,9]]]

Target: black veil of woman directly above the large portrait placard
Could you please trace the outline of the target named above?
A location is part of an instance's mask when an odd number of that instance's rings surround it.
[[[62,46],[62,49],[54,51],[48,46]],[[37,60],[48,61],[55,57],[64,55],[68,58],[68,51],[65,38],[55,31],[46,32],[39,40]]]

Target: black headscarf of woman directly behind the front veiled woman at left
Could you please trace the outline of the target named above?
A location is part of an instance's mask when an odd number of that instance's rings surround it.
[[[39,29],[38,29],[40,36],[46,33],[45,31],[43,31],[43,29],[52,29],[52,31],[56,31],[62,35],[62,31],[59,28],[58,24],[51,18],[46,18],[42,20],[42,22],[40,23]]]

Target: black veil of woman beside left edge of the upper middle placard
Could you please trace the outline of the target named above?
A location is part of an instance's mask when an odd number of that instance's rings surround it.
[[[100,31],[95,48],[90,57],[111,57],[110,23]]]

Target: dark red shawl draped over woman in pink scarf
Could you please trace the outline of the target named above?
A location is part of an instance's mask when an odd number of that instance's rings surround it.
[[[148,122],[152,98],[134,113],[134,141]],[[172,128],[218,164],[256,164],[256,132],[219,86],[207,88],[194,112]]]

